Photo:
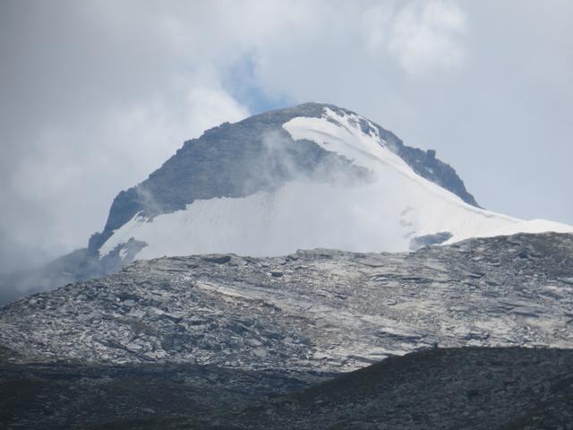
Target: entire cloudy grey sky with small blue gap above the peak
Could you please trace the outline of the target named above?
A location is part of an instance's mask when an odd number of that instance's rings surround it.
[[[573,224],[573,2],[0,0],[0,271],[87,245],[184,140],[324,101],[484,207]]]

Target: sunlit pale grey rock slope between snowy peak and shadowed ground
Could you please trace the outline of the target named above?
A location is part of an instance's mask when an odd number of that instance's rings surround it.
[[[412,254],[160,258],[0,312],[16,361],[345,372],[417,349],[573,347],[573,236]]]

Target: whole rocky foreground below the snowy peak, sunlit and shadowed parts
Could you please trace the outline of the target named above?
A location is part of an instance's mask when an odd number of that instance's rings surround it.
[[[566,429],[572,323],[568,234],[135,262],[0,309],[0,428]]]

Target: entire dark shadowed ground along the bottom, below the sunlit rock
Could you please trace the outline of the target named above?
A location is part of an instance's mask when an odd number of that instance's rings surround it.
[[[321,383],[324,379],[319,374],[215,366],[4,364],[0,365],[0,427],[566,430],[573,426],[571,350],[432,348],[390,357]]]

